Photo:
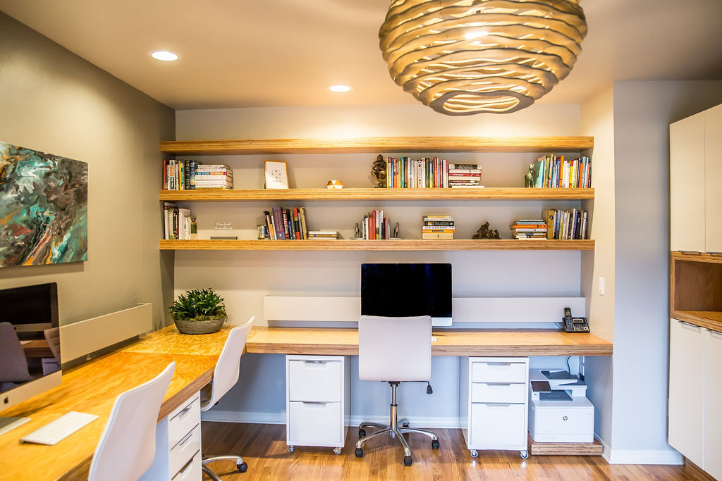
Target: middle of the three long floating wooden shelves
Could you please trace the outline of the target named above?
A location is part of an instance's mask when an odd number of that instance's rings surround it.
[[[593,199],[594,189],[233,189],[161,190],[160,200],[578,200]]]

